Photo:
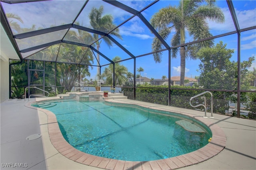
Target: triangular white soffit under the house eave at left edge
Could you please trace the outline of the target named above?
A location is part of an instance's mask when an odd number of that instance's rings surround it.
[[[9,59],[20,60],[16,51],[12,47],[2,24],[0,26],[0,30],[0,59],[3,61],[8,61]]]

